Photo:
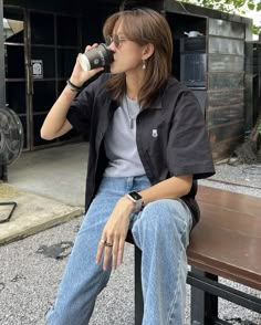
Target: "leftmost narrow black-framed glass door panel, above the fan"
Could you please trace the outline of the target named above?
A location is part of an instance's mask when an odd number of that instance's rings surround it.
[[[27,19],[25,11],[3,7],[3,49],[6,105],[20,117],[24,129],[24,149],[30,148],[30,109],[27,82]]]

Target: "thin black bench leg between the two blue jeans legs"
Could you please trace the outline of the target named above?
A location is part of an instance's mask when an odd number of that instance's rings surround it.
[[[143,289],[142,289],[142,251],[135,245],[135,325],[142,325],[143,323]]]

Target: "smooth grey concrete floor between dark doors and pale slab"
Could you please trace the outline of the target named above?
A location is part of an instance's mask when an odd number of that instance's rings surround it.
[[[71,144],[31,153],[8,168],[8,182],[70,206],[84,206],[88,145]]]

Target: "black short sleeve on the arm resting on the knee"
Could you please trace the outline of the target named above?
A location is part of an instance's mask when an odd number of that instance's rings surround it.
[[[175,107],[167,161],[173,176],[194,175],[194,179],[200,179],[215,174],[205,118],[196,97],[189,91],[180,94]]]

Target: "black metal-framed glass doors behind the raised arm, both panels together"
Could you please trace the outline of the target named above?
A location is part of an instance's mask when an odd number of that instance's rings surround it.
[[[45,141],[41,125],[70,77],[80,52],[79,19],[54,12],[3,7],[7,105],[23,124],[24,149],[60,144]]]

